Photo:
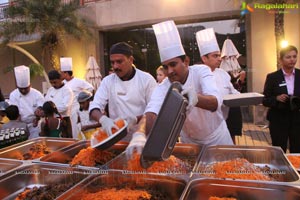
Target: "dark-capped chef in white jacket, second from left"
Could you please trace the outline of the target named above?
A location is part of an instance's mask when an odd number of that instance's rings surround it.
[[[71,88],[66,86],[62,80],[61,74],[57,70],[48,72],[48,77],[52,87],[50,87],[45,96],[45,101],[52,101],[58,112],[63,117],[64,123],[67,126],[67,135],[63,137],[72,138],[72,123],[70,115],[72,112],[73,92]]]

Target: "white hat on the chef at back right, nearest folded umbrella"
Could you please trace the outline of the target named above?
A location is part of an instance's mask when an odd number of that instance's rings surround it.
[[[204,29],[196,33],[200,55],[204,56],[214,51],[220,51],[213,28]]]

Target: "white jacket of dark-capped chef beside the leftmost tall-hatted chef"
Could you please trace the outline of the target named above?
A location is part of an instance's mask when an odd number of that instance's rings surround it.
[[[49,88],[45,96],[45,101],[52,101],[62,117],[70,117],[73,92],[68,86],[64,85],[58,89],[55,89],[54,87]]]

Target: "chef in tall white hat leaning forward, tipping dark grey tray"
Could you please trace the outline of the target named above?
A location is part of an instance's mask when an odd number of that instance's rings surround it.
[[[182,94],[189,99],[188,113],[181,131],[183,143],[200,145],[233,144],[220,110],[222,98],[219,96],[211,70],[205,65],[188,66],[188,59],[181,44],[181,39],[173,21],[153,25],[158,43],[160,59],[167,70],[166,78],[153,91],[145,110],[146,130],[134,133],[127,147],[127,155],[134,151],[141,152],[148,134],[160,111],[165,95],[171,83],[182,84]],[[141,122],[141,123],[142,123]],[[140,127],[145,126],[140,124]]]

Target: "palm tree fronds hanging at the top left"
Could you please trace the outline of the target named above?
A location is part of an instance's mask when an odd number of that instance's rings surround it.
[[[85,22],[76,15],[78,0],[63,3],[61,0],[18,0],[6,10],[6,20],[1,22],[0,36],[13,42],[20,34],[41,33],[44,47],[59,44],[60,37],[88,36]]]

